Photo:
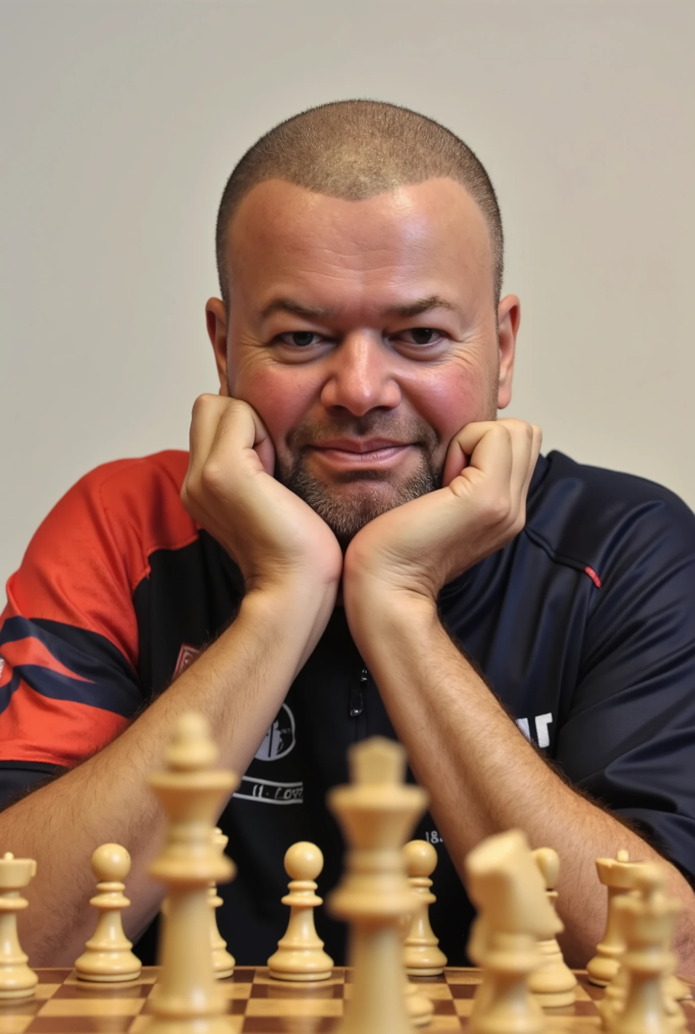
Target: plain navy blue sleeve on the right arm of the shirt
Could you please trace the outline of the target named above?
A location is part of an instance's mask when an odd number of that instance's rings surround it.
[[[695,515],[627,508],[599,558],[556,761],[695,882]]]

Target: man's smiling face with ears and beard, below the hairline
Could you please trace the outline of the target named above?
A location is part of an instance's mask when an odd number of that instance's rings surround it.
[[[453,435],[509,402],[518,300],[497,335],[487,227],[452,180],[359,202],[262,183],[228,263],[229,316],[208,303],[220,390],[343,544],[437,488]]]

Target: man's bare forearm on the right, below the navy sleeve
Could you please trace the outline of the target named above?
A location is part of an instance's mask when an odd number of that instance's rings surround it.
[[[434,608],[384,602],[357,640],[459,874],[482,838],[514,826],[561,855],[560,911],[568,959],[584,965],[605,923],[595,859],[627,848],[659,855],[620,820],[575,793],[544,762],[459,653]],[[355,633],[354,633],[355,634]],[[664,862],[683,903],[677,947],[695,972],[695,894]]]

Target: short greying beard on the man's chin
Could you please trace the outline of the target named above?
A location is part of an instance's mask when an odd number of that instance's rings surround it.
[[[351,484],[354,484],[355,480],[364,482],[366,489],[365,493],[355,500],[336,498],[326,485],[311,477],[301,461],[295,464],[286,477],[282,476],[282,472],[276,473],[282,484],[299,495],[300,499],[304,499],[328,524],[344,552],[357,533],[370,520],[380,517],[388,510],[394,510],[404,503],[441,488],[444,472],[434,470],[423,457],[423,464],[417,474],[403,484],[394,487],[388,503],[385,503],[376,492],[368,490],[370,481],[381,480],[383,477],[376,472],[365,470],[358,478],[351,479]]]

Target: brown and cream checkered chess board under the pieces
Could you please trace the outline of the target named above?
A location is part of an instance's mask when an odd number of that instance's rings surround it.
[[[150,994],[157,969],[143,970],[129,984],[90,984],[78,980],[73,970],[37,970],[39,982],[33,1000],[0,1005],[0,1034],[140,1034],[151,1015]],[[220,981],[229,1001],[231,1030],[235,1034],[300,1034],[333,1031],[350,998],[352,973],[336,968],[330,980],[297,984],[272,980],[266,969],[238,967]],[[577,973],[576,1003],[567,1009],[547,1010],[548,1034],[591,1034],[599,1030],[598,987]],[[429,1034],[465,1031],[480,971],[447,969],[444,976],[414,981],[434,1004]],[[695,1034],[695,1002],[683,1003],[690,1034]]]

